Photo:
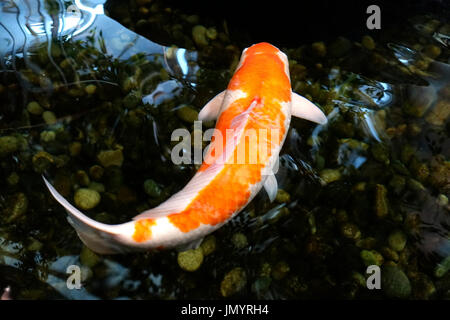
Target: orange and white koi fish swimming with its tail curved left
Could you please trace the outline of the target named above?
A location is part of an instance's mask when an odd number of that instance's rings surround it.
[[[80,239],[97,253],[188,249],[198,246],[204,236],[236,216],[263,187],[270,200],[275,199],[278,186],[272,168],[291,116],[319,124],[327,122],[317,106],[292,92],[286,54],[269,43],[258,43],[243,51],[227,89],[199,113],[199,120],[217,119],[202,165],[181,191],[159,206],[130,222],[103,224],[81,213],[43,178],[53,197],[67,210]],[[247,130],[264,129],[278,134],[259,138],[253,145],[245,144]],[[246,154],[260,150],[262,145],[266,152],[258,154],[254,163],[235,163],[242,145]]]

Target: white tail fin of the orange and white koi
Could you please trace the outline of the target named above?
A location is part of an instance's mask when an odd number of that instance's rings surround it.
[[[75,228],[78,236],[88,248],[100,254],[133,251],[128,240],[134,228],[133,222],[119,225],[97,222],[72,206],[44,176],[42,178],[52,196],[66,209],[69,215],[67,220]]]

